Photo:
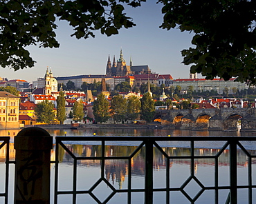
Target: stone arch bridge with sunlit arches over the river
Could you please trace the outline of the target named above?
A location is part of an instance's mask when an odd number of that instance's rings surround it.
[[[256,108],[157,110],[156,118],[179,129],[256,130]]]

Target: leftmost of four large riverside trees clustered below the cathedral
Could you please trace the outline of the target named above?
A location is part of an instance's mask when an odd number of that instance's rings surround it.
[[[109,101],[104,94],[99,94],[97,100],[93,102],[93,115],[95,121],[99,123],[104,123],[109,119]]]

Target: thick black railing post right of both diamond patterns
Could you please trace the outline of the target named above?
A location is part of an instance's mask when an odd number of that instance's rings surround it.
[[[230,203],[237,204],[237,141],[230,140]]]

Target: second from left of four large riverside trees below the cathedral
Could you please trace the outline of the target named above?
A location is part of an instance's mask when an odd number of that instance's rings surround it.
[[[123,122],[127,117],[127,99],[121,95],[113,96],[111,99],[110,112],[113,115],[113,120]]]

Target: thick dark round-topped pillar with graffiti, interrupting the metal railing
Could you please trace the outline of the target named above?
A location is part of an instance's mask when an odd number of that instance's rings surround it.
[[[15,204],[50,203],[53,137],[42,128],[25,128],[15,136]]]

